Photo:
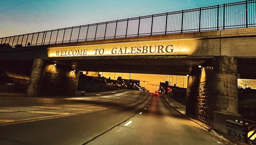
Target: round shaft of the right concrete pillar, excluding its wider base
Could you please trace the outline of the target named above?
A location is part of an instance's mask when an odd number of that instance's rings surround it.
[[[238,114],[237,60],[229,56],[212,59],[214,111]]]

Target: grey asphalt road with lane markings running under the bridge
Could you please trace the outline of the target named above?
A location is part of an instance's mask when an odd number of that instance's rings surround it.
[[[0,144],[227,144],[139,91],[0,98]]]

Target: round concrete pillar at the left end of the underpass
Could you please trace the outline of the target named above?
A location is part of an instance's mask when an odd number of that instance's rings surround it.
[[[41,89],[41,78],[42,73],[44,71],[44,61],[41,59],[34,59],[34,63],[32,66],[29,84],[27,88],[27,95],[35,96],[40,95]]]

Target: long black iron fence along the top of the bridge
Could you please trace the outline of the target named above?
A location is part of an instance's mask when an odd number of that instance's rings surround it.
[[[2,47],[256,27],[256,0],[0,38]]]

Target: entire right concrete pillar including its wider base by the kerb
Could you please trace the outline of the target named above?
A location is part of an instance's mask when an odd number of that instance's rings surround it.
[[[226,120],[242,120],[238,114],[237,60],[215,56],[213,67],[213,127],[227,133]]]

